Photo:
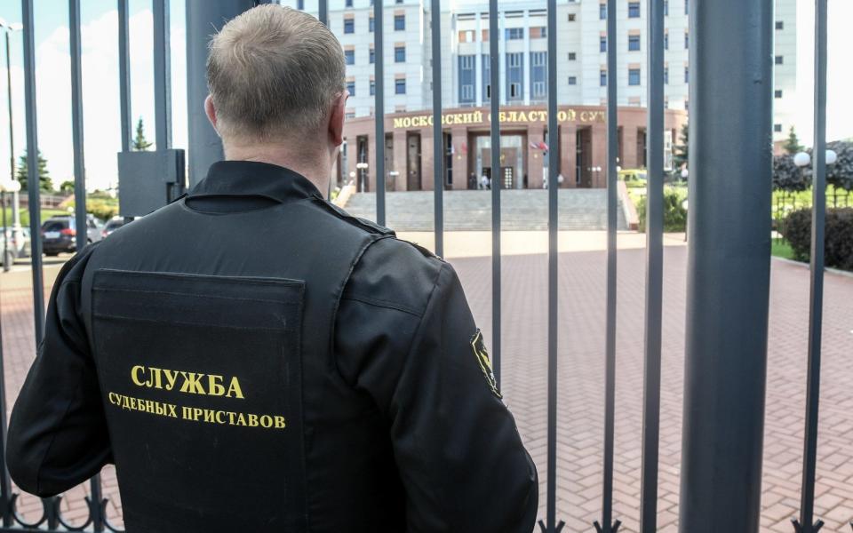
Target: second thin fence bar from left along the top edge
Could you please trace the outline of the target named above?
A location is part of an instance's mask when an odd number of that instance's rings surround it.
[[[83,149],[83,67],[81,63],[80,0],[68,0],[69,49],[71,52],[71,134],[74,145],[74,212],[77,251],[88,241],[86,224],[86,174]]]

